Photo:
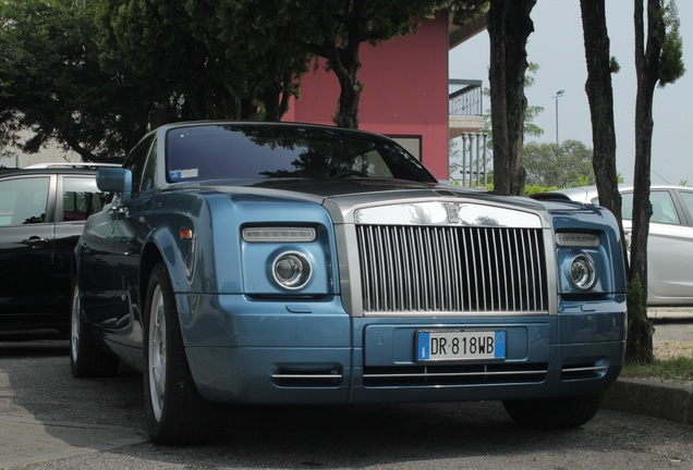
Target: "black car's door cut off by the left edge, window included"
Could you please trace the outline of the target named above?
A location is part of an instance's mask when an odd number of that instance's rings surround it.
[[[17,175],[0,181],[0,311],[2,316],[53,313],[56,177]],[[31,318],[17,319],[28,324]]]

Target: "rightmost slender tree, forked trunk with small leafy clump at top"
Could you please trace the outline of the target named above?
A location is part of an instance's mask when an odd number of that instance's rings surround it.
[[[647,25],[645,29],[646,3]],[[649,187],[652,170],[653,101],[657,84],[664,87],[683,75],[683,46],[676,3],[634,0],[635,23],[635,170],[633,175],[633,233],[629,294],[629,332],[625,359],[653,360],[652,324],[647,319],[647,236],[649,235]]]

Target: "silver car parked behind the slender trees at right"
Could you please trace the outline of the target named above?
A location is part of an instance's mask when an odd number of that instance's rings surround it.
[[[633,187],[619,185],[623,230],[630,245]],[[560,189],[551,196],[585,203],[599,203],[596,186]],[[547,195],[542,195],[547,196]],[[647,242],[647,304],[651,306],[693,305],[693,188],[652,186],[653,214]]]

